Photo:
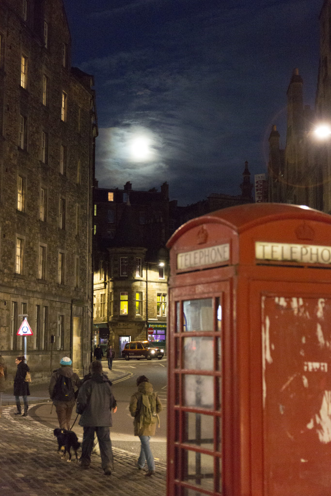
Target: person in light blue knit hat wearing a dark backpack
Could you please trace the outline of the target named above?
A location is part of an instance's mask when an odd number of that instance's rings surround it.
[[[73,372],[72,361],[69,357],[64,357],[60,365],[61,367],[51,375],[48,391],[56,409],[60,429],[69,431],[75,395],[80,386],[80,379]]]

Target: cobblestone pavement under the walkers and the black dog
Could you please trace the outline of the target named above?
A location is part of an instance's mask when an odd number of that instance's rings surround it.
[[[50,428],[14,411],[4,407],[0,418],[0,496],[165,496],[165,464],[157,462],[156,474],[145,477],[135,456],[114,449],[111,476],[97,454],[88,470],[81,469],[74,456],[71,463],[61,459]]]

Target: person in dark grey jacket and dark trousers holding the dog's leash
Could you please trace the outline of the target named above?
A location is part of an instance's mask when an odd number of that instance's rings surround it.
[[[102,373],[101,362],[90,365],[90,378],[84,378],[77,396],[76,413],[81,415],[79,425],[83,426],[83,442],[79,465],[88,468],[91,463],[94,433],[96,433],[101,455],[101,467],[106,475],[111,475],[113,468],[113,450],[109,428],[112,427],[112,410],[117,406],[111,382]]]

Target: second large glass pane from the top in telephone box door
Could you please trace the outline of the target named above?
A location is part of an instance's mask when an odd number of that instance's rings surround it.
[[[214,370],[214,338],[190,337],[183,339],[183,368]]]

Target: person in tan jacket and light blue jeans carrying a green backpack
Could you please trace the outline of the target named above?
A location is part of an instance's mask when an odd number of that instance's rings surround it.
[[[162,404],[145,375],[137,378],[137,386],[138,391],[132,394],[129,406],[134,417],[134,435],[138,435],[141,442],[137,466],[141,470],[147,462],[148,472],[145,475],[151,476],[155,474],[155,462],[149,440],[150,436],[155,435],[156,425],[159,425],[158,413],[162,410]]]

